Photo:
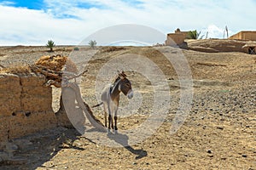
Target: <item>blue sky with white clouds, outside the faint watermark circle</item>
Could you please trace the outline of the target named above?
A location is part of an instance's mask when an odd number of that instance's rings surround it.
[[[149,26],[164,34],[177,28],[221,38],[255,31],[255,0],[0,0],[0,45],[77,45],[104,27]],[[164,40],[163,40],[164,42]]]

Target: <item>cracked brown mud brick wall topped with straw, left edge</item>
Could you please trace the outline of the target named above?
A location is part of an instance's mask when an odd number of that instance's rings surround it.
[[[0,74],[0,142],[56,127],[52,91],[45,77]],[[60,119],[58,117],[58,119]]]

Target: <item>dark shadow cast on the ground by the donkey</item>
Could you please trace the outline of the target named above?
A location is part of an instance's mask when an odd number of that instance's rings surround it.
[[[132,154],[137,155],[135,159],[141,159],[145,156],[148,156],[148,152],[146,150],[134,150],[131,145],[128,144],[129,137],[126,134],[122,133],[108,133],[108,139],[112,139],[118,144],[124,146],[126,150],[131,151]]]

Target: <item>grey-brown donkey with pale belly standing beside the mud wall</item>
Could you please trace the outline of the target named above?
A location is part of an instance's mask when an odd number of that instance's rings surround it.
[[[94,105],[93,107],[103,104],[104,107],[104,118],[105,127],[108,125],[108,132],[112,128],[117,133],[117,111],[119,107],[119,94],[122,92],[128,99],[133,97],[133,91],[131,88],[131,82],[126,78],[125,72],[119,73],[119,77],[115,79],[113,84],[108,84],[102,91],[102,103]],[[107,113],[108,113],[108,124],[107,124]],[[113,125],[114,119],[114,125]]]

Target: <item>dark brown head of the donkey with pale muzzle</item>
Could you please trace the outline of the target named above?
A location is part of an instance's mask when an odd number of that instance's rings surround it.
[[[115,80],[115,82],[119,81],[119,91],[125,94],[129,99],[133,97],[133,91],[131,88],[131,82],[126,78],[125,72],[122,71],[119,73],[119,77]]]

